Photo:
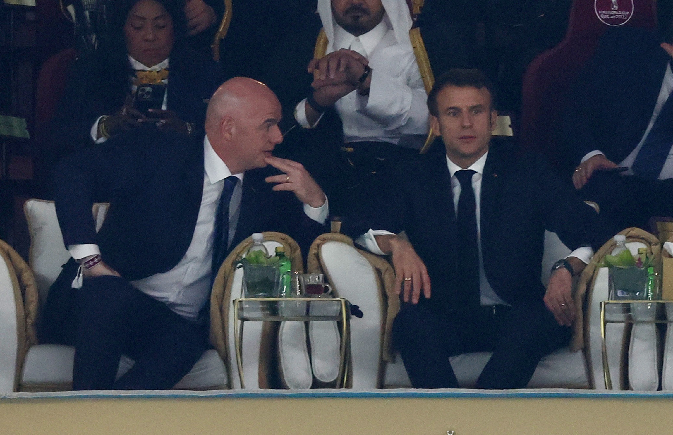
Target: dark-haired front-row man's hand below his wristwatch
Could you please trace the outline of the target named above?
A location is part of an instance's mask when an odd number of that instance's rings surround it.
[[[575,275],[581,274],[586,267],[586,264],[579,258],[568,257],[566,260],[570,263]],[[544,305],[552,312],[559,325],[573,325],[577,307],[573,301],[573,277],[566,268],[559,268],[551,274],[544,294]]]

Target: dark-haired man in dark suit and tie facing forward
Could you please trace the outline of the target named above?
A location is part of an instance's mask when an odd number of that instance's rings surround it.
[[[428,108],[446,154],[397,167],[394,191],[344,223],[358,243],[392,255],[404,301],[393,342],[417,388],[458,387],[448,358],[487,350],[476,387],[526,387],[540,358],[569,341],[572,276],[608,239],[593,208],[540,157],[491,144],[492,89],[479,70],[439,77]],[[545,229],[574,249],[546,291]]]

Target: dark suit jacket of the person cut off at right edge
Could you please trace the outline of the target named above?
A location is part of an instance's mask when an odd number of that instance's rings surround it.
[[[571,87],[563,134],[575,164],[600,150],[619,163],[640,142],[652,116],[670,56],[640,28],[608,30]]]

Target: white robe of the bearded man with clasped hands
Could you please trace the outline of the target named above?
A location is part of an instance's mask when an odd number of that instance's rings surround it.
[[[353,91],[334,104],[343,122],[344,142],[389,142],[420,148],[429,130],[427,95],[411,44],[398,42],[386,14],[374,29],[359,37],[335,24],[334,41],[328,44],[327,52],[341,48],[362,50],[360,54],[372,70],[368,95]],[[304,128],[320,122],[308,123],[306,100],[297,104],[295,119]]]

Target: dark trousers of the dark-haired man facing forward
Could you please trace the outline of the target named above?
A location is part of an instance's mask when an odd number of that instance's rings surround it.
[[[458,388],[449,357],[481,351],[493,356],[476,388],[526,388],[540,359],[571,337],[544,305],[441,312],[423,301],[402,307],[392,333],[415,388]]]

